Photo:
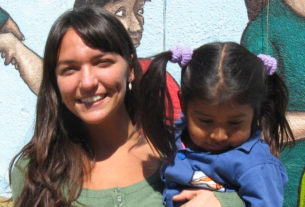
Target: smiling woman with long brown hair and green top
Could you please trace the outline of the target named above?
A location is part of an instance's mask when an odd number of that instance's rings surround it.
[[[43,68],[34,136],[10,167],[15,206],[162,206],[159,152],[171,148],[139,130],[141,69],[124,26],[98,5],[64,13]]]

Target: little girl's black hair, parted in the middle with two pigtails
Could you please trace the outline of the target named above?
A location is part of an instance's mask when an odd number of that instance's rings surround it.
[[[139,87],[144,94],[140,100],[144,133],[156,146],[167,144],[163,153],[170,157],[174,135],[170,127],[173,119],[166,112],[171,104],[165,71],[171,56],[170,51],[156,55]],[[285,117],[288,90],[284,81],[276,73],[267,75],[263,62],[239,44],[215,42],[195,49],[192,60],[182,68],[180,93],[186,104],[201,99],[250,105],[254,110],[252,128],[262,131],[274,155],[278,156],[288,141],[294,141]]]

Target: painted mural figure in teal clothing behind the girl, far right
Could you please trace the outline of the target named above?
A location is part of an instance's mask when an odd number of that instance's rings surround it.
[[[305,1],[245,0],[245,4],[249,23],[241,44],[253,53],[268,53],[276,57],[280,74],[289,88],[287,117],[299,141],[293,150],[282,152],[282,161],[290,179],[285,189],[284,206],[297,206],[297,200],[301,198],[298,188],[303,185],[300,179],[305,163]],[[284,158],[286,155],[290,159]]]

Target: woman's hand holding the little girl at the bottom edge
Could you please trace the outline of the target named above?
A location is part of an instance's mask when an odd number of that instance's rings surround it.
[[[214,193],[205,189],[187,189],[173,197],[174,202],[187,201],[181,207],[221,207]]]

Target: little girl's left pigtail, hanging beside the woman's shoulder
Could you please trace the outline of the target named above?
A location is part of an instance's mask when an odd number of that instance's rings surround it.
[[[174,153],[173,106],[166,85],[166,65],[172,58],[167,51],[153,57],[139,85],[139,119],[144,134],[170,160]]]

